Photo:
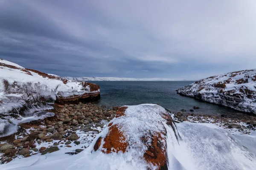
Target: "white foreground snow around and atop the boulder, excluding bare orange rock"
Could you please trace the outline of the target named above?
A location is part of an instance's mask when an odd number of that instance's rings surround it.
[[[138,113],[137,111],[140,111]],[[146,170],[145,162],[140,159],[143,145],[139,137],[143,130],[162,130],[156,127],[164,121],[159,114],[166,113],[157,105],[128,106],[125,116],[111,120],[123,125],[124,133],[131,135],[132,146],[126,153],[92,151],[97,138],[81,153],[69,156],[64,150],[46,155],[15,159],[0,165],[1,170]],[[142,118],[140,118],[142,116]],[[154,118],[154,116],[157,116]],[[124,117],[122,119],[122,117]],[[125,119],[127,118],[127,121]],[[132,119],[133,118],[133,119]],[[155,121],[154,121],[155,119]],[[110,122],[110,123],[111,123]],[[128,125],[124,125],[126,123]],[[140,123],[137,125],[137,123]],[[145,124],[144,124],[145,123]],[[151,125],[153,124],[153,125]],[[146,127],[147,125],[149,127]],[[232,135],[227,130],[208,123],[183,122],[176,124],[182,140],[175,140],[171,127],[167,130],[167,153],[170,170],[254,170],[256,166],[256,136]],[[122,127],[121,127],[122,128]],[[134,130],[134,132],[133,132]],[[104,136],[108,127],[99,133]],[[253,133],[254,134],[254,133]],[[141,148],[138,148],[140,146]],[[139,159],[138,159],[139,158]]]

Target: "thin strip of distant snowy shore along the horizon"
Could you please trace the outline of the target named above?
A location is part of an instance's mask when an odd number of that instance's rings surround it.
[[[168,78],[122,78],[122,77],[63,77],[75,81],[194,81]]]

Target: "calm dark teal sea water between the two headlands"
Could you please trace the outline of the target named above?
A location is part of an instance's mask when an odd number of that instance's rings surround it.
[[[191,81],[152,82],[152,81],[92,81],[100,86],[101,99],[96,102],[99,105],[122,106],[139,105],[143,103],[155,103],[173,112],[198,106],[200,109],[193,113],[210,114],[220,116],[221,114],[234,115],[243,114],[231,108],[201,102],[191,97],[180,96],[176,93],[178,88],[189,85]]]

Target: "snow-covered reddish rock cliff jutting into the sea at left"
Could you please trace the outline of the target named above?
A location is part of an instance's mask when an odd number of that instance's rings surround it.
[[[75,82],[0,59],[0,114],[30,114],[47,104],[100,98],[99,85]]]

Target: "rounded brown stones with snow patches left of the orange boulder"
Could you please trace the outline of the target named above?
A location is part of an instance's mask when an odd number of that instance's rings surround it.
[[[58,150],[77,154],[90,145],[117,110],[118,107],[108,109],[81,102],[78,105],[54,105],[54,117],[21,124],[17,133],[0,138],[1,164]]]

